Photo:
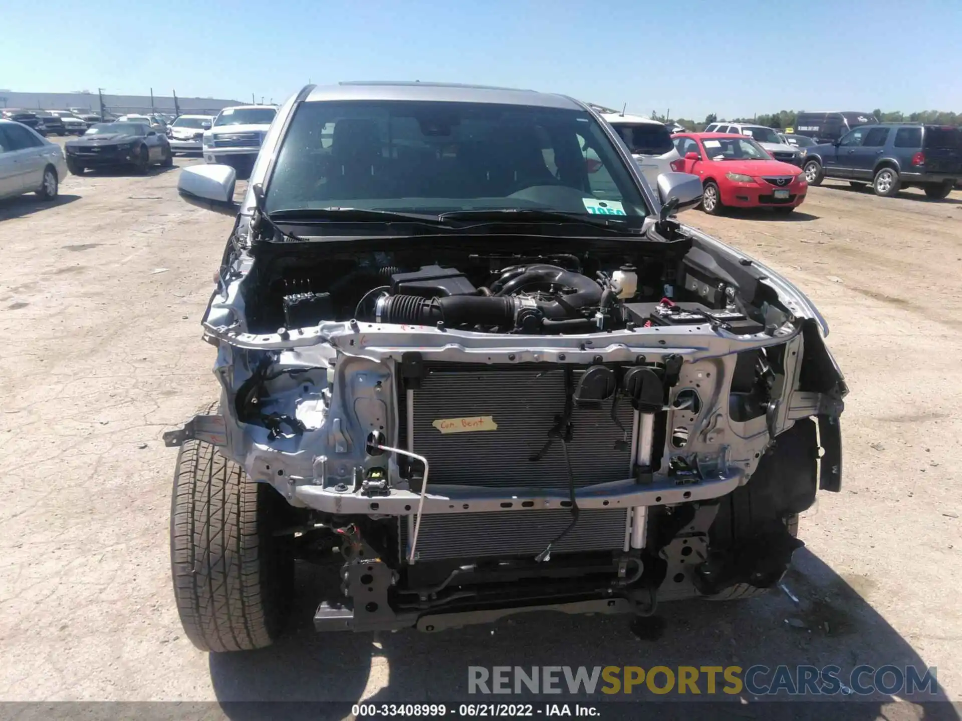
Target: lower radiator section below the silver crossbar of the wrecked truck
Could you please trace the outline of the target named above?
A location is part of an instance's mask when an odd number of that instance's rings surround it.
[[[628,533],[628,512],[580,509],[578,523],[552,547],[552,555],[621,550]],[[407,556],[413,524],[408,517],[399,520],[398,552],[403,558]],[[429,513],[421,518],[416,560],[534,557],[570,522],[568,509]]]

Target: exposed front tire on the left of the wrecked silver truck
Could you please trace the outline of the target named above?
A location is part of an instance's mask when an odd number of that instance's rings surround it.
[[[170,512],[170,566],[181,624],[194,646],[215,653],[269,646],[287,622],[294,564],[272,535],[287,503],[252,482],[214,446],[188,440],[177,456]]]

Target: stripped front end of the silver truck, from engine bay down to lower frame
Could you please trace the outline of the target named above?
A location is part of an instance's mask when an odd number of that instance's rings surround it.
[[[340,559],[319,630],[769,587],[840,485],[823,321],[690,229],[232,246],[204,325],[221,412],[177,439]]]

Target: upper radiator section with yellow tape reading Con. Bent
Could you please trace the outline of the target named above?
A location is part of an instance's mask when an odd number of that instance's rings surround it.
[[[582,372],[574,372],[575,383]],[[555,416],[564,412],[566,396],[565,371],[557,366],[429,366],[406,409],[405,439],[430,461],[431,484],[567,488],[560,440],[541,460],[530,460],[544,447]],[[601,409],[572,414],[568,448],[575,487],[631,475],[634,411],[627,401],[617,409],[625,435],[611,410],[608,401]],[[468,431],[443,432],[441,421],[464,422]],[[616,448],[622,439],[624,447]]]

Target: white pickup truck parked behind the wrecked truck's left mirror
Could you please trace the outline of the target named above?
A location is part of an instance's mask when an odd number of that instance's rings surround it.
[[[272,105],[239,105],[217,113],[204,133],[204,162],[231,165],[240,178],[250,175],[261,143],[277,114]]]

